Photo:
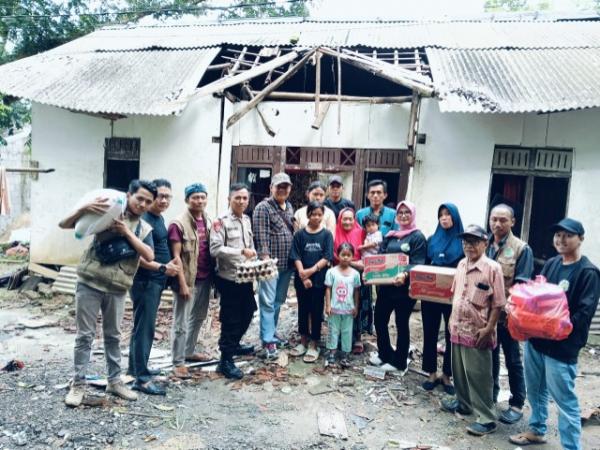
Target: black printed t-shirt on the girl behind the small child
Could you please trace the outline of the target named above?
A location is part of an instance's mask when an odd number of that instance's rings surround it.
[[[314,266],[319,260],[333,260],[333,235],[329,230],[322,228],[317,233],[309,233],[306,228],[296,231],[290,252],[290,261],[301,261],[305,269]],[[310,280],[314,287],[323,287],[325,273],[327,270],[321,268]]]

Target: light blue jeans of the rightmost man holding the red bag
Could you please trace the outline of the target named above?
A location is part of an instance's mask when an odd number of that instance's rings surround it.
[[[537,435],[547,431],[548,398],[558,407],[560,443],[566,450],[581,450],[581,419],[575,395],[577,364],[567,364],[538,352],[525,343],[525,383],[531,405],[529,428]]]

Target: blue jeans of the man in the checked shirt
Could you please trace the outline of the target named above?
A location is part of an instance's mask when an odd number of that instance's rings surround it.
[[[275,330],[279,322],[279,310],[285,303],[293,269],[279,270],[277,278],[261,281],[258,286],[260,306],[260,340],[263,344],[275,342]]]

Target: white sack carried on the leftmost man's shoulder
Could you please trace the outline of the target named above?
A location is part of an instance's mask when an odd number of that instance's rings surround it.
[[[79,200],[76,209],[98,197],[108,199],[109,208],[104,214],[88,213],[81,216],[75,224],[75,237],[77,239],[83,239],[86,236],[108,229],[113,221],[125,211],[127,195],[114,189],[96,189],[88,192]]]

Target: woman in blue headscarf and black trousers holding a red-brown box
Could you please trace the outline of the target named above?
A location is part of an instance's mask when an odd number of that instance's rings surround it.
[[[462,242],[458,237],[463,232],[462,220],[458,208],[453,203],[442,203],[438,208],[438,226],[435,233],[427,241],[427,261],[432,266],[456,267],[464,257]],[[448,331],[448,321],[452,305],[436,302],[421,302],[421,316],[423,318],[423,365],[422,368],[429,374],[427,381],[423,382],[423,389],[430,391],[438,384],[444,385],[444,391],[454,395],[454,386],[450,377],[452,366],[450,362],[451,343]],[[446,348],[442,376],[437,373],[437,341],[440,324],[444,318],[444,335]]]

